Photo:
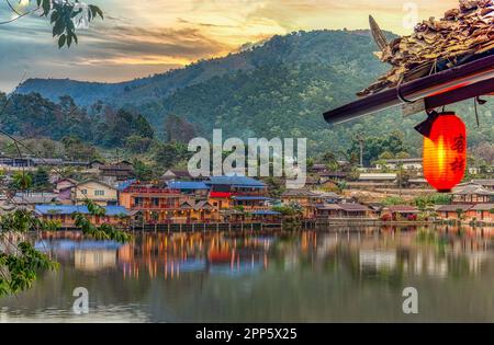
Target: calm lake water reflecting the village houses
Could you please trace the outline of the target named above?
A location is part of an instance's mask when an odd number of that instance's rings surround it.
[[[0,322],[494,322],[493,229],[335,230],[41,235],[60,269],[0,299]],[[402,312],[408,286],[418,315]]]

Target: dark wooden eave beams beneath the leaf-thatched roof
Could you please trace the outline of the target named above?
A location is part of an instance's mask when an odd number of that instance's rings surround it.
[[[494,93],[494,55],[362,97],[324,114],[329,124],[405,105],[418,113]],[[408,103],[413,102],[413,103]]]

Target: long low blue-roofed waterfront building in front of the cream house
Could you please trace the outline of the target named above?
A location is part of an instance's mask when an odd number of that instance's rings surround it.
[[[94,226],[111,225],[124,227],[128,225],[128,211],[121,206],[106,206],[104,216],[94,216],[89,212],[87,206],[70,205],[36,205],[35,215],[43,220],[59,221],[63,228],[76,228],[74,215],[82,214],[88,217],[89,221]]]

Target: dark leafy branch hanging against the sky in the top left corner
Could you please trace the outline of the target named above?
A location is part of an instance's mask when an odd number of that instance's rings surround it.
[[[78,0],[27,0],[25,5],[13,5],[11,0],[4,0],[4,3],[14,16],[0,24],[12,23],[30,14],[40,14],[49,19],[53,36],[58,38],[59,48],[78,43],[76,27],[88,26],[97,16],[103,19],[103,11],[99,7]]]

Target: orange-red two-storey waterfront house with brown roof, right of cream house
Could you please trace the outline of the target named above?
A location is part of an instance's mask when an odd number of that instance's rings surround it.
[[[134,183],[119,193],[120,205],[139,212],[145,223],[170,223],[179,216],[179,191]]]

